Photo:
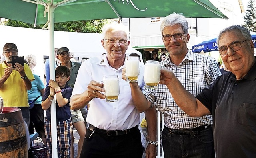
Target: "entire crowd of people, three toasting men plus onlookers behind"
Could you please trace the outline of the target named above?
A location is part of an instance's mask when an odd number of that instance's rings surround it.
[[[162,147],[166,158],[256,157],[256,64],[250,31],[234,25],[220,31],[217,45],[226,72],[209,56],[192,53],[188,22],[172,13],[162,20],[160,31],[168,55],[161,54],[157,89],[144,88],[144,64],[137,82],[126,82],[126,50],[129,32],[121,24],[102,28],[106,54],[82,64],[67,47],[55,50],[55,80],[44,74],[46,85],[34,72],[36,57],[15,63],[18,48],[6,43],[0,64],[0,96],[5,107],[18,107],[30,134],[34,130],[52,158],[51,106],[56,105],[58,158],[73,158],[73,127],[80,136],[79,158],[142,158],[138,128],[140,113],[146,128],[146,158],[156,157],[157,110],[164,114]],[[136,53],[131,56],[137,56]],[[73,58],[73,59],[72,59]],[[157,53],[152,60],[159,61]],[[117,102],[106,102],[103,76],[119,77]],[[15,91],[15,95],[12,92]],[[29,100],[34,106],[29,107]],[[56,101],[56,104],[53,103]],[[44,110],[46,119],[44,120]],[[87,117],[84,118],[86,111]]]

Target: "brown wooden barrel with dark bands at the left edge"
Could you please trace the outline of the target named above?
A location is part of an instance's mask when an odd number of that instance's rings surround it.
[[[27,158],[26,129],[20,108],[4,107],[0,114],[0,158]]]

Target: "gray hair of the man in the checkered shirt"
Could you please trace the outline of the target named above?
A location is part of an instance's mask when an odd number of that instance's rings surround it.
[[[184,33],[188,33],[188,21],[182,13],[172,13],[164,18],[161,23],[160,31],[163,35],[163,31],[165,27],[180,25]]]

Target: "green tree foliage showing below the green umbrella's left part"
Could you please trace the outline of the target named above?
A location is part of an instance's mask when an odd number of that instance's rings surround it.
[[[14,27],[25,27],[33,29],[42,29],[44,25],[34,25],[23,23],[15,20],[8,20],[4,22],[7,26]],[[110,23],[110,20],[83,20],[83,21],[72,21],[72,22],[61,22],[55,23],[55,31],[66,31],[66,32],[82,32],[82,33],[102,33],[102,27]]]

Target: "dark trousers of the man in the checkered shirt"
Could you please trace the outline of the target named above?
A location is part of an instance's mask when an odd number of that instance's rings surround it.
[[[162,131],[164,158],[215,158],[212,127],[198,135],[172,134]]]

